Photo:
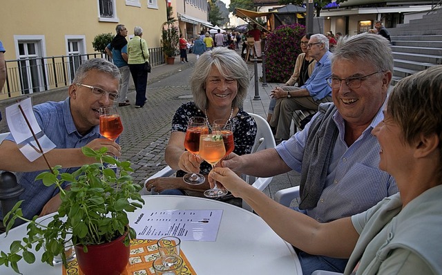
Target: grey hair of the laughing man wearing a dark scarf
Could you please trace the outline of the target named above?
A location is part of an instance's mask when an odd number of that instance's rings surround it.
[[[392,48],[390,48],[390,42],[382,35],[362,33],[352,37],[341,37],[334,47],[332,64],[337,59],[372,64],[376,70],[393,72]]]

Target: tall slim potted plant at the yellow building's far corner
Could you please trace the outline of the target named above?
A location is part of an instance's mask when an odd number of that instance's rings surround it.
[[[175,61],[175,55],[177,55],[178,44],[180,43],[180,37],[178,35],[178,28],[175,26],[175,21],[172,15],[172,7],[168,7],[167,21],[162,25],[162,39],[164,57],[167,64],[173,64]]]

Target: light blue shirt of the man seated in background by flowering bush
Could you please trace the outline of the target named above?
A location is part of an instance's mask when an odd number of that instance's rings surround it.
[[[316,62],[315,69],[311,73],[307,82],[300,88],[306,88],[309,91],[310,96],[315,101],[323,99],[329,95],[332,95],[332,87],[327,84],[327,77],[332,75],[332,62],[330,61],[332,53],[327,50],[327,53]]]

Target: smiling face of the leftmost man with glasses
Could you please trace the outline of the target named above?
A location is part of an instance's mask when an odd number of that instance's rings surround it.
[[[118,79],[98,70],[90,70],[81,84],[96,86],[109,93],[118,93]],[[70,112],[77,131],[81,134],[99,125],[99,107],[113,104],[108,94],[99,97],[92,93],[90,88],[76,84],[69,86],[69,96]]]

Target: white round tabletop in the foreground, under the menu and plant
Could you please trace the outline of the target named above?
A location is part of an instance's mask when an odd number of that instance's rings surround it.
[[[143,196],[145,208],[151,210],[222,209],[222,219],[215,242],[183,241],[182,251],[195,272],[205,274],[302,274],[298,256],[293,247],[282,240],[257,215],[225,202],[189,196]],[[130,213],[129,220],[137,217]],[[25,236],[26,225],[10,231],[7,238],[0,236],[0,247],[6,249],[13,240]],[[32,265],[23,260],[20,271],[31,275],[61,274],[61,267],[41,263],[42,249],[36,252]],[[0,274],[15,274],[0,266]]]

